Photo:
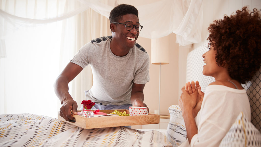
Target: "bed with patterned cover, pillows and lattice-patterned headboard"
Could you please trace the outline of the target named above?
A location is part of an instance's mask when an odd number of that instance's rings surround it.
[[[207,43],[204,43],[187,56],[187,81],[198,80],[202,91],[214,80],[202,75],[202,54],[206,49]],[[250,99],[251,122],[245,122],[247,126],[242,126],[236,120],[221,146],[242,146],[246,143],[261,146],[260,79],[261,69],[252,81],[243,85]],[[4,114],[0,115],[0,146],[179,146],[186,140],[182,112],[178,105],[171,105],[169,112],[170,122],[168,128],[163,130],[127,127],[84,129],[47,116]],[[239,114],[238,119],[244,121],[242,114]],[[238,128],[244,128],[244,131],[239,134],[236,132]],[[251,134],[247,134],[248,131]]]

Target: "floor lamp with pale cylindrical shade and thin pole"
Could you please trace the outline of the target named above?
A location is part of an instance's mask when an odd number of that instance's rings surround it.
[[[169,41],[165,37],[151,39],[151,64],[159,65],[159,105],[158,115],[160,115],[161,101],[161,65],[169,64]],[[159,129],[159,124],[158,124]]]

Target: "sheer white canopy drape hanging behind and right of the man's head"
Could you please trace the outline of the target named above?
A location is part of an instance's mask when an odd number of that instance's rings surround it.
[[[113,7],[99,1],[79,0],[96,12],[109,18]],[[139,11],[140,24],[144,26],[141,37],[161,38],[176,34],[176,42],[181,46],[201,41],[203,25],[203,0],[116,0],[116,4],[131,4]],[[114,4],[112,3],[112,4]],[[142,5],[138,5],[143,3]]]

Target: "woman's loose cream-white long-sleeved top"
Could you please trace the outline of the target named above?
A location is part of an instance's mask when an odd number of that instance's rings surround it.
[[[207,86],[201,109],[195,117],[198,133],[192,137],[190,146],[219,146],[241,111],[250,121],[250,104],[245,89]],[[189,146],[188,139],[180,146]]]

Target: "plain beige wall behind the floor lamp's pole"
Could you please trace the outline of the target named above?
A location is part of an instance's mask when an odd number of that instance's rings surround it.
[[[164,37],[169,39],[169,53],[170,62],[169,64],[161,65],[161,102],[160,102],[160,113],[166,114],[168,107],[173,104],[177,104],[178,96],[178,82],[179,82],[179,44],[175,43],[176,35],[171,33]],[[151,57],[151,43],[143,43],[142,41],[151,39],[139,38],[138,43],[143,46]],[[150,62],[151,63],[151,62]],[[159,98],[159,65],[150,64],[150,82],[148,82],[144,88],[144,102],[150,109],[151,113],[154,110],[158,110],[158,98]]]

